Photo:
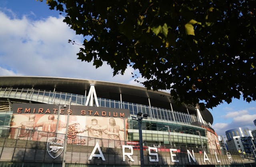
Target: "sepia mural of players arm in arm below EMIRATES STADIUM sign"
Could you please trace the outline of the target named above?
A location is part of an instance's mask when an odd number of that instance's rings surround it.
[[[68,143],[93,146],[95,142],[100,145],[110,142],[116,147],[125,140],[127,123],[123,118],[70,115],[66,128],[68,116],[60,115],[59,121],[57,117],[54,114],[14,114],[10,138],[47,141],[49,137],[58,136],[64,139],[68,129]]]

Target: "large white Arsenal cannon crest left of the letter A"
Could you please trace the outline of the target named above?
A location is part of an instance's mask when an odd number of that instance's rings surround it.
[[[49,138],[47,141],[47,151],[52,158],[60,156],[64,148],[64,140],[56,137]]]

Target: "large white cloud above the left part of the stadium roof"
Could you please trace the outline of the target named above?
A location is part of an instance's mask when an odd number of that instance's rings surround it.
[[[83,37],[76,35],[62,21],[62,16],[18,19],[8,17],[0,9],[0,18],[1,76],[51,76],[136,84],[130,67],[123,76],[113,77],[106,63],[96,69],[92,63],[77,60],[80,46],[69,44],[68,39],[82,43]]]

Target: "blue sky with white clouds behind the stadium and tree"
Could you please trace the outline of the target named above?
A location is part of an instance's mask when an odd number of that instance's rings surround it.
[[[0,0],[0,76],[50,76],[101,80],[138,85],[128,68],[124,76],[112,76],[106,64],[95,69],[91,63],[77,60],[83,37],[62,22],[63,16],[49,10],[46,1]],[[212,127],[218,135],[228,129],[256,129],[256,102],[234,99],[209,109],[214,117]]]

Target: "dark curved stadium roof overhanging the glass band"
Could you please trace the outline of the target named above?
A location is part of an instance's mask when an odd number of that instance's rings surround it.
[[[196,114],[195,108],[191,105],[176,105],[175,101],[170,97],[170,93],[163,91],[147,90],[144,87],[127,85],[113,82],[102,82],[95,80],[81,80],[73,78],[55,78],[55,77],[34,77],[34,76],[0,76],[0,87],[20,87],[45,89],[74,93],[84,95],[85,90],[90,89],[90,84],[95,85],[97,97],[120,100],[148,105],[148,98],[151,106],[171,109],[170,103],[174,111],[183,113]],[[188,111],[187,111],[188,108]],[[208,109],[201,111],[202,117],[212,124],[213,117]]]

